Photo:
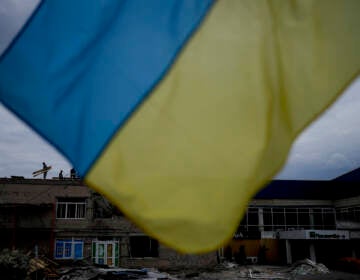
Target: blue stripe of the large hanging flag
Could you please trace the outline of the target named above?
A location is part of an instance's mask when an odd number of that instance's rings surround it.
[[[0,100],[84,176],[211,4],[45,1],[0,59]]]

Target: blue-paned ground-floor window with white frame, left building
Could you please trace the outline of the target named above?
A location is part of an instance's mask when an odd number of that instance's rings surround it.
[[[57,239],[55,259],[82,259],[84,242],[81,239]]]

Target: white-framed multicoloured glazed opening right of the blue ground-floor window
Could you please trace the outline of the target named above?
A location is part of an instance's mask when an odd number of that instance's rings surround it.
[[[106,264],[110,267],[119,265],[119,242],[94,241],[92,243],[92,259],[96,264]]]

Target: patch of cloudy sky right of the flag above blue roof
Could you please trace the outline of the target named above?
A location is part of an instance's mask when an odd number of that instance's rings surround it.
[[[360,78],[294,143],[278,178],[331,179],[360,166]]]

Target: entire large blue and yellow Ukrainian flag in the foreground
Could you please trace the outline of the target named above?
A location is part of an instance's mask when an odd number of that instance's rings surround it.
[[[0,100],[145,232],[232,237],[360,69],[360,1],[3,0]]]

